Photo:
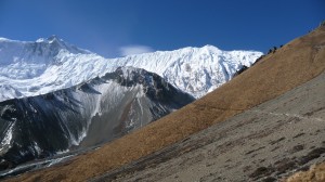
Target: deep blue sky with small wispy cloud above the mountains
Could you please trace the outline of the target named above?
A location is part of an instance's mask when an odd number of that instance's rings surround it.
[[[268,51],[325,20],[324,0],[0,0],[0,37],[56,35],[106,57],[212,44]]]

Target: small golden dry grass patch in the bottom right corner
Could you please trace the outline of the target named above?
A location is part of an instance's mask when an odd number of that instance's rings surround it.
[[[313,165],[308,171],[296,172],[286,182],[325,182],[325,162]]]

